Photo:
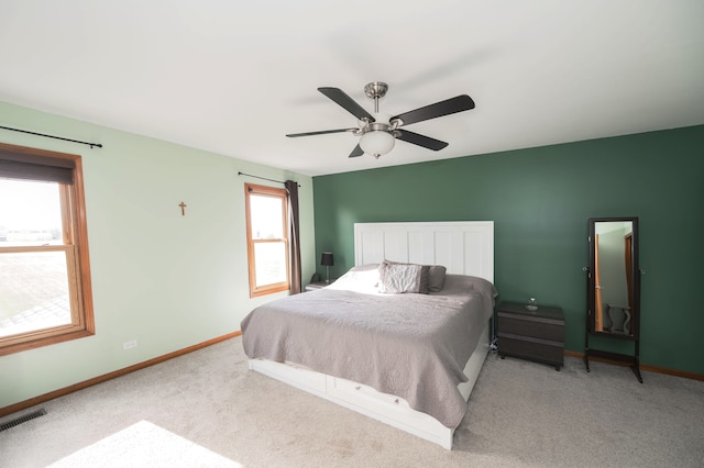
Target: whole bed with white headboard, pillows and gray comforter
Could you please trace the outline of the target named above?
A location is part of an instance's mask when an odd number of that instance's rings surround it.
[[[242,321],[250,369],[451,449],[488,352],[493,230],[355,224],[354,268]]]

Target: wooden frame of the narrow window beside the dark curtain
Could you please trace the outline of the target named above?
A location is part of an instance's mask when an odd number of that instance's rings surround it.
[[[282,221],[283,221],[283,238],[273,239],[255,239],[252,238],[252,216],[250,208],[250,196],[273,197],[282,200]],[[246,215],[246,245],[248,245],[248,264],[250,272],[250,297],[256,298],[274,292],[290,290],[290,260],[289,260],[289,239],[288,239],[288,193],[286,189],[277,189],[275,187],[257,186],[254,183],[244,185],[245,215]],[[256,261],[254,246],[258,243],[283,242],[286,252],[286,281],[275,282],[271,285],[256,286]]]

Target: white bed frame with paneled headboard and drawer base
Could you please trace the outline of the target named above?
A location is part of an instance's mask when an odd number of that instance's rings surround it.
[[[494,282],[494,222],[355,223],[355,265],[384,259],[443,265],[449,274],[471,275]],[[469,400],[490,349],[490,322],[464,368],[469,381],[458,386]],[[252,370],[324,398],[350,410],[452,448],[454,430],[411,409],[399,397],[362,383],[265,359],[250,359]]]

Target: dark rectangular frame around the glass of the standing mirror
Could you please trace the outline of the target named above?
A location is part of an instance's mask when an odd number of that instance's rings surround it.
[[[631,333],[614,333],[596,330],[596,223],[605,222],[631,222],[631,278],[632,278],[632,304],[630,304]],[[640,263],[639,263],[639,230],[638,218],[590,218],[590,267],[587,279],[587,322],[588,333],[594,335],[613,336],[625,339],[639,339],[640,336]]]

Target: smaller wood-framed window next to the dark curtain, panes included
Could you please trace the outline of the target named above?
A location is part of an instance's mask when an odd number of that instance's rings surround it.
[[[285,189],[244,185],[250,297],[290,289]]]

